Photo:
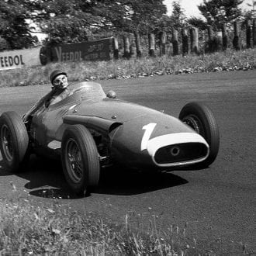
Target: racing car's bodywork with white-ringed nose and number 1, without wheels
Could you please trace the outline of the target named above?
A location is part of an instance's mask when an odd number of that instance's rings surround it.
[[[39,109],[33,116],[30,135],[36,147],[61,149],[67,126],[80,124],[102,138],[113,162],[130,168],[172,168],[200,162],[208,156],[206,140],[179,119],[135,103],[109,99],[101,85],[94,82],[71,86],[66,99]],[[189,156],[192,146],[185,144],[200,147],[201,151]],[[179,150],[188,157],[178,161],[175,154]],[[162,155],[171,162],[165,162]]]

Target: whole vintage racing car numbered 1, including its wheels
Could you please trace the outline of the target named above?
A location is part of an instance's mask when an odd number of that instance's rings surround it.
[[[99,184],[113,164],[144,171],[206,168],[218,154],[213,112],[187,103],[178,118],[116,99],[96,82],[72,85],[67,98],[42,106],[26,122],[16,112],[0,116],[0,149],[9,171],[24,169],[31,154],[61,158],[67,184],[78,195]]]

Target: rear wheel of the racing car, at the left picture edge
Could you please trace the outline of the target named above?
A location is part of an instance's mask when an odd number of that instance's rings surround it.
[[[16,112],[3,112],[0,116],[0,150],[8,171],[22,169],[29,156],[29,136]]]

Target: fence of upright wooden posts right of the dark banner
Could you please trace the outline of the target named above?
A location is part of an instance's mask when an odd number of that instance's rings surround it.
[[[256,19],[248,20],[243,28],[240,22],[234,22],[232,30],[231,33],[227,32],[227,25],[223,24],[221,31],[216,35],[211,26],[208,26],[206,30],[189,27],[180,31],[173,29],[171,34],[164,31],[157,36],[154,33],[149,33],[147,40],[139,33],[127,33],[123,35],[122,40],[114,38],[113,56],[114,59],[121,56],[130,58],[133,55],[142,57],[145,50],[146,55],[150,57],[166,54],[170,56],[205,54],[227,50],[227,48],[241,50],[256,46]],[[122,51],[123,54],[121,54]]]

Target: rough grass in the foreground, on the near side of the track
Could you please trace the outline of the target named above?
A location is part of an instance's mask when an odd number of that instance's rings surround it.
[[[40,203],[14,192],[11,201],[0,200],[0,254],[251,255],[244,244],[228,251],[221,241],[200,244],[187,236],[188,223],[182,228],[166,223],[163,231],[154,213],[147,223],[135,215],[127,213],[116,223],[98,213],[78,213],[57,199]]]

